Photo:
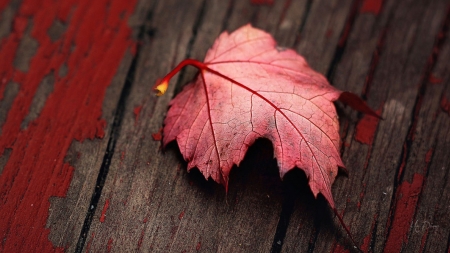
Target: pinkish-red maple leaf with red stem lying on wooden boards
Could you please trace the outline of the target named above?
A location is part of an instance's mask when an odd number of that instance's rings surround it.
[[[280,176],[295,167],[304,170],[314,196],[320,192],[335,210],[331,184],[344,164],[333,102],[341,97],[360,111],[376,113],[356,95],[331,86],[294,50],[277,47],[270,34],[250,25],[222,33],[204,63],[183,61],[155,89],[164,93],[186,65],[200,73],[171,101],[163,144],[177,140],[188,170],[197,167],[205,178],[227,187],[233,165],[239,166],[256,139],[267,138]]]

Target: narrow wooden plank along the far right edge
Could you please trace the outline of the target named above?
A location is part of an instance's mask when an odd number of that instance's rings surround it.
[[[449,9],[447,9],[446,30],[450,25]],[[442,33],[441,35],[443,35]],[[419,195],[414,210],[414,216],[408,221],[411,227],[407,238],[403,241],[405,252],[445,252],[449,250],[450,238],[450,203],[449,199],[449,165],[448,150],[450,145],[450,114],[448,98],[450,97],[450,41],[441,35],[437,36],[437,43],[431,63],[434,67],[419,95],[415,108],[415,126],[412,132],[412,144],[409,157],[404,167],[399,193],[410,184],[421,180]],[[448,35],[447,35],[448,36]],[[447,37],[448,38],[448,37]],[[442,43],[440,45],[440,43]],[[402,188],[403,187],[403,188]],[[410,196],[411,198],[411,196]],[[399,196],[394,211],[393,229],[398,224],[401,212],[397,210],[404,203],[404,197]],[[397,220],[396,220],[397,219]],[[392,233],[392,232],[391,232]],[[394,236],[391,238],[395,239]]]

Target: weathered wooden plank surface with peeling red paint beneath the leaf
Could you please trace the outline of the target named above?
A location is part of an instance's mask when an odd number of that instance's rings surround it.
[[[258,2],[258,1],[254,1]],[[300,170],[260,141],[229,192],[152,134],[184,58],[252,23],[376,121],[337,104],[333,185],[364,252],[450,252],[450,2],[0,1],[0,252],[353,252]]]

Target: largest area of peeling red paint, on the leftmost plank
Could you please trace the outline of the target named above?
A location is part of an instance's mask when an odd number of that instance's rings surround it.
[[[125,51],[132,45],[127,19],[135,2],[21,2],[11,32],[2,39],[0,48],[0,97],[11,80],[20,85],[0,138],[0,154],[12,150],[0,175],[0,251],[64,250],[48,240],[50,230],[45,227],[49,198],[67,193],[74,168],[64,158],[73,140],[104,136],[103,98]],[[67,30],[59,40],[52,41],[47,31],[58,19],[67,24]],[[39,48],[28,72],[21,73],[14,69],[13,62],[28,26]],[[63,65],[68,74],[56,76],[55,88],[39,117],[22,130],[20,125],[41,80]]]

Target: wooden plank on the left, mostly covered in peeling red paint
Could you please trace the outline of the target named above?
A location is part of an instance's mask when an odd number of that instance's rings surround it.
[[[74,250],[132,59],[135,5],[0,4],[0,251]]]

